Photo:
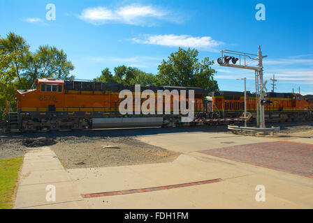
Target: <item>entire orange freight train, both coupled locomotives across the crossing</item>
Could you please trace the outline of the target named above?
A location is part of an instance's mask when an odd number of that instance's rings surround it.
[[[122,90],[136,95],[135,86],[123,86],[116,83],[78,82],[58,79],[37,79],[33,89],[16,92],[16,112],[9,103],[6,105],[8,130],[83,130],[86,128],[124,128],[141,126],[173,127],[201,124],[234,124],[242,121],[245,100],[244,93],[235,91],[208,92],[201,88],[175,86],[145,86],[140,92],[150,90],[157,101],[159,91],[177,90],[179,95],[170,96],[170,106],[165,105],[165,114],[121,114],[119,98]],[[175,100],[183,97],[189,101],[189,94],[182,91],[194,91],[194,119],[182,122],[182,111],[175,113]],[[265,118],[267,120],[300,120],[312,118],[312,105],[303,95],[296,93],[267,93]],[[163,96],[162,96],[163,98]],[[143,103],[146,99],[141,99]],[[178,102],[180,103],[180,102]],[[263,103],[263,102],[262,102]],[[136,102],[133,103],[135,109]],[[187,105],[188,107],[188,105]],[[155,108],[157,110],[157,107]],[[247,93],[247,112],[249,121],[256,119],[256,95]]]

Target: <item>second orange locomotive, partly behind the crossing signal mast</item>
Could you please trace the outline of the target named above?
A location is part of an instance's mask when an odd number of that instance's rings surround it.
[[[212,118],[236,118],[245,112],[245,95],[238,91],[216,91],[209,93]],[[262,102],[268,121],[296,121],[312,117],[312,107],[298,93],[266,93]],[[256,121],[256,95],[247,92],[247,112]]]

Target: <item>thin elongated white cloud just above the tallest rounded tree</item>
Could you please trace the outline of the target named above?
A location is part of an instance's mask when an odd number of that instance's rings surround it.
[[[162,45],[167,47],[198,47],[211,49],[223,45],[223,42],[213,40],[210,36],[193,37],[189,35],[146,35],[145,38],[132,38],[133,42],[151,45]]]

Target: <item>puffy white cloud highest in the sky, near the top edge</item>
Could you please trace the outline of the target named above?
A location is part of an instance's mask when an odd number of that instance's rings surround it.
[[[164,19],[168,13],[154,6],[142,6],[133,4],[117,8],[115,10],[96,7],[85,8],[80,14],[80,19],[91,24],[100,25],[112,22],[133,24],[133,25],[147,25],[152,26],[154,23],[149,19]]]

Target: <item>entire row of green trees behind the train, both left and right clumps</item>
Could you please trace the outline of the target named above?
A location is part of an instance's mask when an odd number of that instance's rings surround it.
[[[214,61],[205,57],[198,59],[198,50],[179,48],[158,66],[157,75],[138,68],[117,66],[114,74],[109,68],[101,71],[94,82],[119,83],[126,86],[194,86],[216,91],[217,81],[213,79],[216,71]],[[35,52],[30,51],[27,41],[15,33],[0,36],[0,120],[4,120],[6,100],[15,107],[17,89],[31,89],[36,79],[70,79],[73,63],[67,59],[63,49],[41,45]],[[87,74],[89,75],[89,74]]]

